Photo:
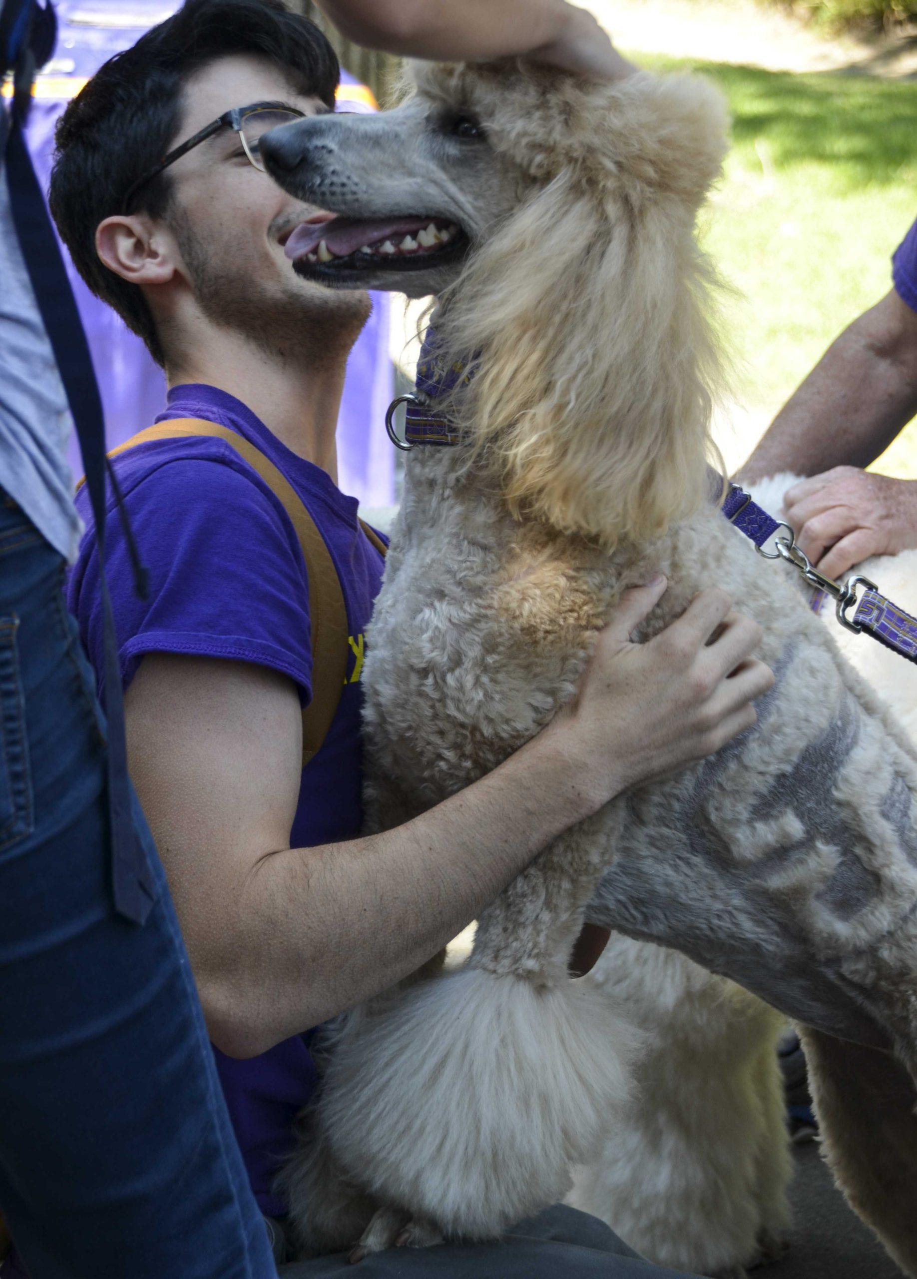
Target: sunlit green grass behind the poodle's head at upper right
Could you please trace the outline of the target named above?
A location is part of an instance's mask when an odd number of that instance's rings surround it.
[[[917,217],[917,84],[637,60],[689,65],[729,98],[733,148],[705,240],[739,294],[726,304],[737,398],[766,423],[891,286],[890,255]],[[893,449],[885,469],[917,477],[917,425]]]

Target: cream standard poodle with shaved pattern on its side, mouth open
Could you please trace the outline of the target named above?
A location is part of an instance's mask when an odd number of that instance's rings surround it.
[[[917,756],[719,509],[694,223],[724,139],[697,78],[428,65],[394,111],[263,147],[338,215],[293,233],[297,271],[437,299],[423,386],[451,443],[408,455],[368,637],[371,829],[537,733],[656,570],[643,636],[719,585],[778,677],[753,730],[556,839],[459,971],[329,1028],[285,1174],[304,1248],[495,1237],[579,1169],[577,1201],[637,1248],[741,1274],[787,1221],[779,1009],[836,1175],[917,1274]],[[618,936],[573,981],[586,918]]]

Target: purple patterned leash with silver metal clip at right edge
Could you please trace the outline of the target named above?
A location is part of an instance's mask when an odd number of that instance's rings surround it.
[[[792,564],[802,577],[819,592],[817,602],[813,608],[819,611],[825,596],[831,596],[835,601],[838,622],[848,631],[857,634],[872,636],[879,643],[885,645],[900,657],[917,663],[917,618],[899,609],[884,595],[880,595],[875,582],[867,577],[852,577],[847,582],[835,582],[831,577],[825,577],[817,568],[813,568],[808,556],[796,545],[793,530],[783,519],[774,519],[756,501],[752,501],[744,489],[730,485],[726,500],[723,503],[723,514],[730,524],[741,533],[744,533],[752,542],[758,555],[765,559],[783,559]],[[784,535],[774,541],[774,550],[765,550],[765,544],[776,532],[784,530]],[[857,590],[863,587],[863,593],[857,599]],[[853,616],[849,611],[854,608]]]

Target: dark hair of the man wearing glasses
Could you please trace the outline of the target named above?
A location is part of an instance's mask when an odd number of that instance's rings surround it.
[[[60,237],[88,286],[162,363],[143,293],[96,253],[96,228],[121,208],[125,193],[175,139],[185,81],[229,54],[256,54],[292,86],[334,107],[340,69],[318,28],[281,0],[187,0],[132,49],[109,59],[58,122],[50,205]],[[169,171],[138,193],[153,217],[169,206]]]

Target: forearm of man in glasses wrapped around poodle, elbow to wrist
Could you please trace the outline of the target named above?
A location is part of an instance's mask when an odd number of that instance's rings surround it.
[[[379,835],[262,857],[230,926],[238,964],[202,980],[211,1039],[262,1053],[431,959],[547,843],[593,812],[563,733]]]

